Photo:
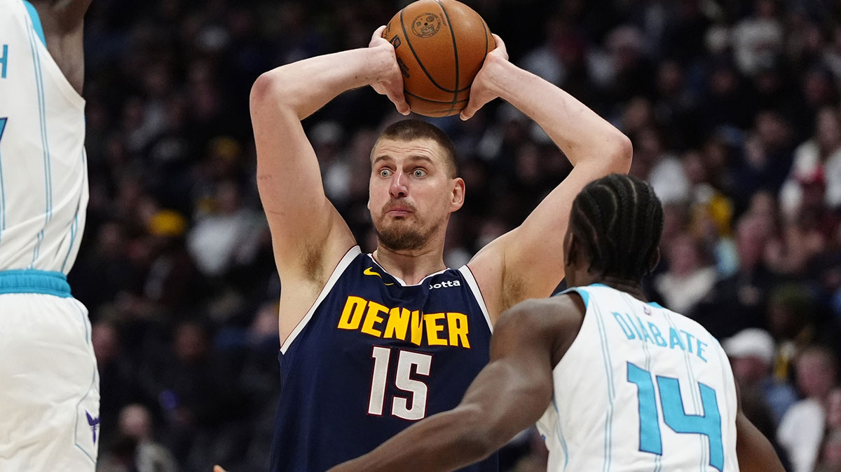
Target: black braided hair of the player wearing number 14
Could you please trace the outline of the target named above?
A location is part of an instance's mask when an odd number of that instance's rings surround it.
[[[639,280],[653,270],[663,231],[663,206],[639,178],[611,174],[575,197],[569,226],[600,276]]]

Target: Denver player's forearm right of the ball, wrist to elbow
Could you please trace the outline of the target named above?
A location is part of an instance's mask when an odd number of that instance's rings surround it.
[[[569,93],[508,61],[494,64],[491,83],[500,98],[535,120],[569,162],[594,160],[606,173],[631,167],[631,141]]]

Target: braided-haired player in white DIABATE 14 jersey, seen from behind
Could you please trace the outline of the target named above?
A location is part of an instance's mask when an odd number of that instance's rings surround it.
[[[457,408],[331,472],[457,469],[538,419],[549,472],[782,472],[739,411],[717,340],[645,301],[662,229],[647,183],[612,174],[587,185],[563,239],[572,289],[501,316],[490,363]]]

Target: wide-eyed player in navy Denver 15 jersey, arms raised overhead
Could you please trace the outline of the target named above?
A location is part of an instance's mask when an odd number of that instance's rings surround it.
[[[574,170],[522,225],[467,266],[447,268],[447,221],[465,195],[452,141],[426,122],[400,121],[371,151],[368,209],[378,244],[362,253],[325,197],[301,120],[367,85],[409,113],[383,28],[368,48],[278,67],[251,91],[257,183],[283,284],[274,472],[324,471],[456,406],[488,362],[500,313],[551,294],[563,278],[561,241],[546,236],[566,231],[575,194],[630,167],[625,135],[511,64],[496,37],[462,118],[503,98],[546,130]],[[492,458],[469,470],[495,469]]]

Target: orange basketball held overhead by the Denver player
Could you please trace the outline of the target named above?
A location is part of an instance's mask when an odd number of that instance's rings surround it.
[[[456,0],[418,0],[389,21],[406,102],[416,114],[449,116],[467,106],[470,85],[496,47],[479,13]]]

